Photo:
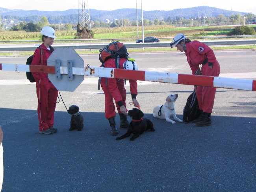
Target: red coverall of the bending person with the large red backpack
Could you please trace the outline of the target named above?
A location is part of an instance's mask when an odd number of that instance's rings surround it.
[[[123,63],[127,59],[121,58],[119,60],[120,63],[120,68],[123,69]],[[115,67],[115,59],[110,58],[108,59],[104,67],[108,68],[116,68]],[[107,84],[106,84],[107,81]],[[132,94],[132,98],[136,98],[138,92],[137,92],[137,80],[131,80],[129,79],[130,82],[130,91]],[[110,117],[115,117],[116,112],[115,112],[115,105],[113,102],[113,99],[115,100],[116,107],[117,107],[117,112],[120,112],[120,107],[124,105],[126,108],[126,89],[124,88],[124,79],[115,79],[115,78],[101,78],[100,80],[100,85],[102,87],[102,90],[104,91],[105,94],[105,117],[108,119]],[[126,109],[127,111],[127,109]]]

